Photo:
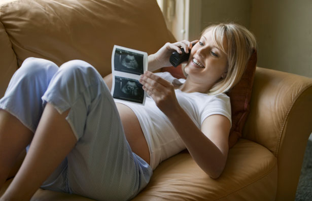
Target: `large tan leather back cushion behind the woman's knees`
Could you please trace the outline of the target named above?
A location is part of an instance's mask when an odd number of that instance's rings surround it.
[[[151,54],[175,41],[156,1],[12,0],[0,9],[0,80],[10,69],[1,96],[29,56],[58,65],[82,59],[105,76],[111,73],[114,45]]]

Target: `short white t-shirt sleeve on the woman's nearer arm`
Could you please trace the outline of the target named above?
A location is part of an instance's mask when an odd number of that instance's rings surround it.
[[[227,117],[232,126],[230,97],[224,93],[213,95],[207,99],[200,109],[200,125],[209,116],[219,114]]]

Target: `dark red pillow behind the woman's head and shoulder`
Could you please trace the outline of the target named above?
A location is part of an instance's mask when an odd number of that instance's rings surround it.
[[[227,95],[231,100],[231,112],[232,112],[232,127],[229,135],[229,147],[233,147],[238,138],[241,137],[242,128],[245,125],[249,108],[250,98],[254,83],[254,77],[256,72],[257,63],[257,51],[254,50],[251,55],[244,74],[240,81],[227,92]],[[185,78],[182,73],[181,65],[177,68],[166,67],[162,68],[162,72],[169,72],[176,78]]]

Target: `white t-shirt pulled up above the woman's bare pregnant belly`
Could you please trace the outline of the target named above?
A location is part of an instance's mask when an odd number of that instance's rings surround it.
[[[156,73],[156,75],[178,85],[185,82],[184,79],[178,80],[172,77],[168,72]],[[185,93],[180,89],[176,89],[175,93],[180,106],[199,129],[203,120],[214,114],[224,115],[231,122],[230,98],[226,94]],[[161,161],[186,148],[175,127],[167,116],[159,110],[151,97],[146,98],[144,106],[119,99],[115,99],[115,102],[128,106],[137,116],[150,150],[153,170]]]

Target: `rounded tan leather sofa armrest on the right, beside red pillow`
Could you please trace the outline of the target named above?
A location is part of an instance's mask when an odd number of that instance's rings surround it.
[[[295,198],[312,131],[311,103],[312,79],[257,67],[243,138],[263,145],[278,159],[276,200]]]

